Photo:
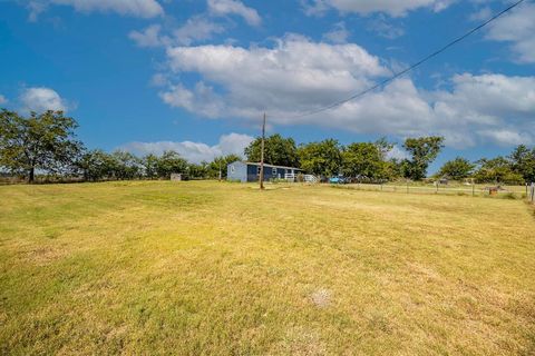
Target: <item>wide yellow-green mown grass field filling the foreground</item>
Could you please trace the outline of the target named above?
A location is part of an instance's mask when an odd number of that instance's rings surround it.
[[[521,200],[0,187],[0,354],[534,355]]]

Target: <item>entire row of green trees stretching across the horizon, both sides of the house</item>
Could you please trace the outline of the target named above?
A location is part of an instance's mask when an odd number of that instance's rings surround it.
[[[14,111],[0,112],[0,172],[25,177],[36,174],[82,177],[87,181],[108,179],[168,179],[172,174],[189,178],[224,178],[236,155],[217,157],[198,165],[188,162],[176,151],[160,156],[135,155],[117,150],[88,150],[76,138],[78,123],[61,111],[31,112],[22,117]],[[296,145],[292,138],[272,135],[265,139],[265,162],[296,167],[318,177],[342,175],[359,180],[388,181],[400,178],[421,180],[429,165],[444,148],[439,136],[408,138],[402,144],[407,158],[391,157],[395,145],[385,138],[374,142],[341,145],[335,139]],[[261,138],[244,150],[249,161],[260,161]],[[535,181],[535,148],[516,147],[507,157],[483,158],[471,162],[457,157],[447,161],[435,178],[474,179],[476,182],[524,184]]]

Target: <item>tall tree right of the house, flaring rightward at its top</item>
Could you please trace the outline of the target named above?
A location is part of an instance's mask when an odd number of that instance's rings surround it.
[[[403,174],[406,178],[421,180],[426,178],[427,168],[444,147],[444,137],[430,136],[408,138],[403,148],[412,156],[403,161]]]

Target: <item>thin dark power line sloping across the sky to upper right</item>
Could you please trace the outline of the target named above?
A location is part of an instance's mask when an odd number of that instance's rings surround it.
[[[496,13],[495,16],[493,16],[490,19],[488,19],[487,21],[483,22],[481,24],[473,28],[471,30],[469,30],[468,32],[466,32],[465,34],[456,38],[455,40],[450,41],[449,43],[447,43],[446,46],[441,47],[440,49],[436,50],[435,52],[426,56],[425,58],[420,59],[419,61],[417,61],[416,63],[411,65],[410,67],[407,67],[406,69],[399,71],[399,72],[396,72],[393,73],[393,76],[380,81],[379,83],[366,89],[366,90],[362,90],[347,99],[343,99],[343,100],[340,100],[340,101],[335,101],[331,105],[328,105],[325,107],[322,107],[322,108],[319,108],[319,109],[315,109],[315,110],[311,110],[311,111],[307,111],[307,112],[303,112],[303,113],[300,113],[300,115],[296,115],[296,116],[293,116],[291,118],[294,118],[294,119],[298,119],[298,118],[302,118],[302,117],[307,117],[307,116],[311,116],[311,115],[314,115],[314,113],[320,113],[320,112],[323,112],[323,111],[328,111],[328,110],[331,110],[331,109],[334,109],[334,108],[338,108],[342,105],[344,105],[346,102],[349,102],[349,101],[352,101],[354,99],[358,99],[362,96],[366,96],[368,92],[370,91],[373,91],[378,88],[381,88],[383,87],[385,85],[396,80],[397,78],[406,75],[407,72],[414,70],[415,68],[424,65],[425,62],[427,62],[428,60],[430,60],[431,58],[434,57],[437,57],[438,55],[440,55],[441,52],[446,51],[447,49],[449,49],[450,47],[454,47],[455,44],[457,44],[458,42],[463,41],[465,38],[469,37],[470,34],[473,34],[474,32],[477,32],[479,31],[480,29],[483,29],[484,27],[486,27],[487,24],[489,24],[490,22],[495,21],[496,19],[500,18],[502,16],[504,16],[505,13],[509,12],[510,10],[513,10],[514,8],[516,8],[517,6],[519,6],[521,3],[523,3],[525,0],[519,0],[515,3],[513,3],[512,6],[509,6],[508,8],[502,10],[500,12]]]

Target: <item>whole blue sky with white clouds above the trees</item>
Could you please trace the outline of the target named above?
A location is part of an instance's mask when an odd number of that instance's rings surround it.
[[[444,135],[432,169],[532,145],[535,4],[335,110],[505,8],[455,0],[3,0],[0,106],[65,109],[89,148],[198,161],[259,134],[343,144]],[[402,152],[398,152],[402,155]]]

